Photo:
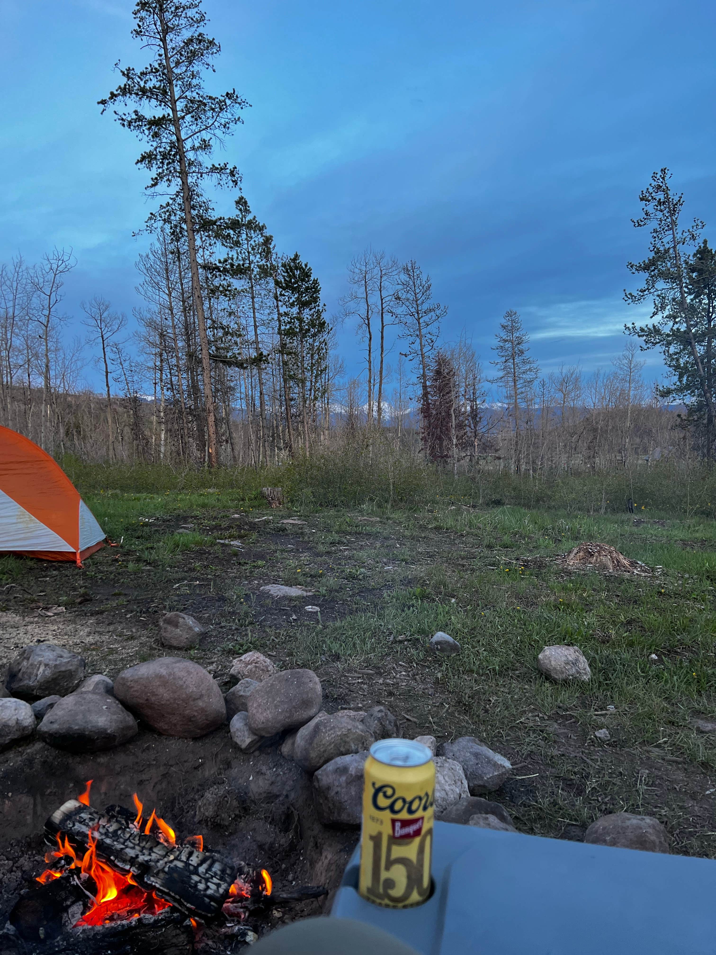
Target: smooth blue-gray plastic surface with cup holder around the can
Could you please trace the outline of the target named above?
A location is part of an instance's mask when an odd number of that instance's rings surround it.
[[[356,850],[332,916],[423,955],[716,955],[716,861],[435,823],[424,905],[358,895]]]

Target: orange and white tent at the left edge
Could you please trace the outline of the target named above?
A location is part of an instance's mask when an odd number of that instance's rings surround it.
[[[81,563],[104,532],[73,482],[30,438],[0,427],[0,553]]]

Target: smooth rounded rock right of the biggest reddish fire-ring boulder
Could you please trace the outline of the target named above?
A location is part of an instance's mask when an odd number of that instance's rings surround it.
[[[321,681],[310,669],[286,669],[263,680],[248,698],[248,725],[260,736],[295,730],[321,709]]]

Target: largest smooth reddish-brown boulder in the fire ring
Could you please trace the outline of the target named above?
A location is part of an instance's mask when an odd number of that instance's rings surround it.
[[[193,739],[226,721],[226,706],[214,678],[191,660],[159,657],[124,669],[115,696],[154,730]]]

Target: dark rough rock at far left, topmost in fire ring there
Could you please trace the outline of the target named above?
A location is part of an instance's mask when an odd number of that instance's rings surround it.
[[[13,696],[32,702],[44,696],[71,693],[84,675],[81,656],[64,647],[39,644],[20,650],[8,668],[6,687]]]

